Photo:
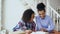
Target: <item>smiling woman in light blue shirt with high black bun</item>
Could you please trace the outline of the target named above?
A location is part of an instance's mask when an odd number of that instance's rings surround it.
[[[54,30],[54,23],[50,16],[46,15],[45,5],[39,3],[37,5],[38,16],[36,16],[36,24],[38,31],[48,31],[51,32]]]

